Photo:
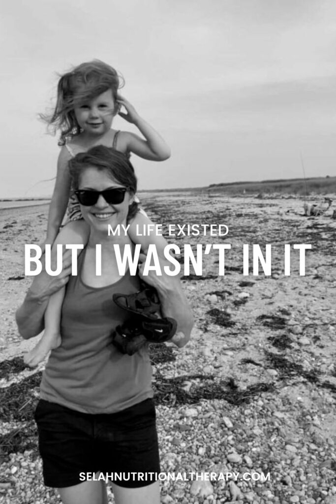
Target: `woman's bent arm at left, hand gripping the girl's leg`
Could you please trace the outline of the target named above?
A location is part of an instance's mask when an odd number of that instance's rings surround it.
[[[19,333],[24,339],[33,338],[43,331],[44,312],[48,305],[49,297],[68,282],[72,268],[71,258],[72,250],[65,250],[63,254],[63,269],[59,275],[48,275],[43,263],[42,272],[34,277],[22,305],[16,312]],[[51,269],[53,271],[56,269],[56,254],[54,252],[51,254]]]

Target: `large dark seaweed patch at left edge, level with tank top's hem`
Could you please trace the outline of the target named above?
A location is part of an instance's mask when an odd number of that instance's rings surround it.
[[[28,376],[20,383],[0,389],[0,420],[30,420],[35,412],[42,372]]]

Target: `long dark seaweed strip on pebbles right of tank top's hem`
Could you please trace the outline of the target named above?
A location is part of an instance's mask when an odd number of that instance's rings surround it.
[[[201,380],[201,384],[195,384],[188,392],[183,390],[182,385],[186,380]],[[155,376],[154,399],[157,405],[180,406],[182,404],[197,404],[201,399],[223,399],[234,406],[248,403],[254,396],[262,392],[274,390],[272,384],[258,383],[246,389],[240,390],[233,378],[226,381],[215,381],[213,375],[184,375],[176,378],[165,379],[160,373]]]

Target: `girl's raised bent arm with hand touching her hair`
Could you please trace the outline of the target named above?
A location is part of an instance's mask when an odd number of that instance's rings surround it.
[[[154,128],[146,122],[136,109],[122,96],[118,95],[118,103],[125,107],[127,114],[119,112],[126,121],[135,124],[144,135],[145,140],[133,133],[120,132],[118,137],[119,150],[133,152],[143,159],[164,161],[170,157],[170,148]]]

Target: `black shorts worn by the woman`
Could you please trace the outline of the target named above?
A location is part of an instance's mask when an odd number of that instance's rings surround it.
[[[101,471],[108,481],[137,488],[160,473],[153,399],[98,415],[40,399],[35,421],[46,486],[77,485]]]

